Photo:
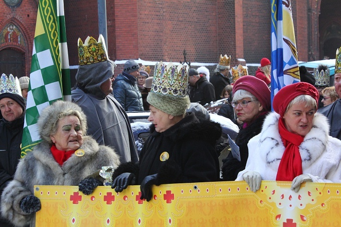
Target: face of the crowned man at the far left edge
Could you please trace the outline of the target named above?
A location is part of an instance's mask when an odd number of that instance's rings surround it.
[[[1,114],[7,121],[16,120],[24,112],[21,105],[19,105],[19,103],[10,98],[2,98],[0,100],[0,110]]]

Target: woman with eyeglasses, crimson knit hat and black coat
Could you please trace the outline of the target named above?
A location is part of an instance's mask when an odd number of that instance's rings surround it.
[[[254,76],[243,76],[233,85],[233,106],[242,127],[236,136],[241,161],[232,153],[223,159],[223,180],[235,180],[245,169],[249,156],[247,143],[260,133],[266,114],[271,110],[271,93],[266,83]]]

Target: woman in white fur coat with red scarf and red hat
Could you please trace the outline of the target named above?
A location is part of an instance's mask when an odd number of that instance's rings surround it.
[[[273,99],[259,135],[248,147],[252,152],[245,170],[236,180],[245,180],[252,191],[261,180],[292,181],[298,192],[302,182],[341,182],[341,141],[329,136],[327,119],[316,113],[318,91],[300,82],[282,88]]]

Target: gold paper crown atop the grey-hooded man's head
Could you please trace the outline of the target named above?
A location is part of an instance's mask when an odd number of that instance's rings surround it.
[[[93,37],[88,36],[84,45],[81,38],[78,38],[78,58],[79,65],[89,65],[108,60],[103,36],[99,35],[98,42]]]

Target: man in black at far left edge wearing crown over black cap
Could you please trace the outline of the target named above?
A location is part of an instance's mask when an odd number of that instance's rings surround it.
[[[13,180],[20,160],[25,120],[25,99],[21,96],[19,80],[12,74],[0,81],[0,195]],[[13,226],[0,218],[0,226]]]

